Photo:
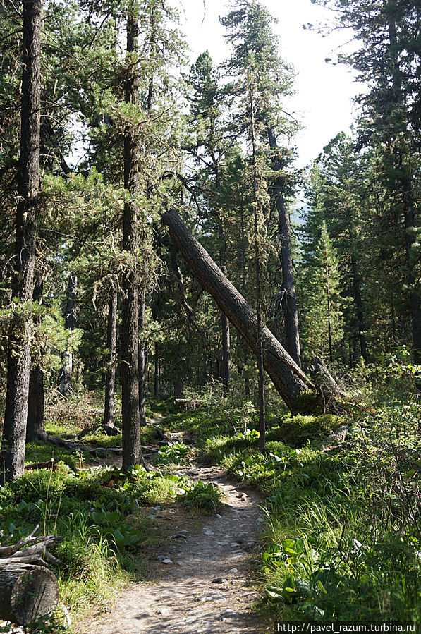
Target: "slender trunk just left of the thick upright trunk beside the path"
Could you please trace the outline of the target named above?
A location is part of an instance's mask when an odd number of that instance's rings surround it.
[[[117,359],[117,280],[111,281],[108,309],[108,327],[106,332],[106,346],[109,349],[109,367],[106,371],[105,404],[103,427],[114,427],[114,392],[116,389],[116,359]]]

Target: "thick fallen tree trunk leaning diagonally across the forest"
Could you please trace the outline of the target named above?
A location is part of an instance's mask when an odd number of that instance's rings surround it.
[[[176,248],[203,288],[216,301],[238,332],[257,354],[257,315],[252,307],[226,278],[209,253],[190,233],[175,209],[169,209],[162,216]],[[303,394],[315,390],[315,386],[298,367],[271,331],[264,327],[262,332],[264,370],[293,413],[314,410],[319,395],[303,398]]]

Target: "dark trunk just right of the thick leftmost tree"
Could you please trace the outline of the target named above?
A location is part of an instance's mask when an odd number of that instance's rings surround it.
[[[44,283],[39,270],[35,272],[35,285],[32,298],[39,304],[44,295]],[[41,322],[41,315],[34,319],[35,324]],[[44,371],[42,369],[42,350],[34,354],[32,350],[32,367],[29,377],[28,417],[26,423],[26,440],[37,441],[45,439],[44,431]]]

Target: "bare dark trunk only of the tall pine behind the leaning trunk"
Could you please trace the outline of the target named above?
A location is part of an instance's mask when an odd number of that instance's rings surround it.
[[[278,144],[273,130],[267,128],[269,145],[271,150],[277,150]],[[273,161],[274,171],[280,171],[281,162],[278,157]],[[282,264],[282,310],[286,334],[286,350],[295,363],[301,367],[300,334],[298,330],[298,307],[295,298],[295,284],[293,272],[293,255],[291,250],[291,224],[288,211],[283,198],[283,182],[281,176],[277,176],[273,184],[273,193],[278,210],[279,238],[281,240],[281,264]]]

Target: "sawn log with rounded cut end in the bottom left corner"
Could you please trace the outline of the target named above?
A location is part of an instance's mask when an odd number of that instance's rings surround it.
[[[56,609],[59,584],[44,566],[2,563],[0,560],[0,619],[28,625]]]

